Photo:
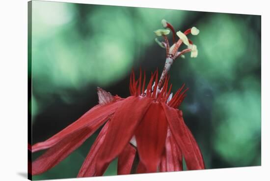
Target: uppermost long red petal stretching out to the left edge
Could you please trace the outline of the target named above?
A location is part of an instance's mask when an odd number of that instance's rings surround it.
[[[94,133],[104,123],[104,121],[108,120],[110,115],[115,112],[117,107],[119,107],[122,102],[123,101],[115,101],[104,106],[97,105],[93,107],[84,115],[82,115],[81,118],[64,128],[60,132],[56,133],[53,137],[49,138],[44,142],[33,145],[32,152],[51,148],[62,139],[84,127],[88,127],[89,132],[91,131],[92,133]]]

